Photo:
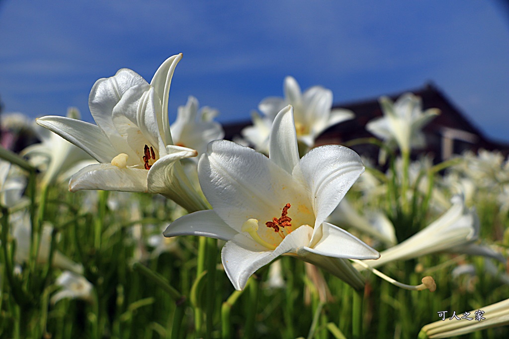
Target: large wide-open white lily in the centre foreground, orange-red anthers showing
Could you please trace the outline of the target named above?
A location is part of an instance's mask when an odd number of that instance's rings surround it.
[[[355,288],[362,277],[346,258],[376,259],[377,251],[325,222],[364,167],[339,145],[310,150],[299,159],[293,108],[272,126],[270,159],[231,141],[209,144],[198,175],[212,210],[184,215],[164,235],[201,235],[228,241],[221,259],[237,290],[280,255],[329,269]]]

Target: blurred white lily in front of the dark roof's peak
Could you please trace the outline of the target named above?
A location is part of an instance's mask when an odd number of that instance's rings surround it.
[[[397,144],[402,152],[425,146],[421,129],[440,111],[436,108],[422,112],[419,97],[404,94],[395,103],[387,97],[380,98],[383,116],[367,123],[366,129],[389,145]]]

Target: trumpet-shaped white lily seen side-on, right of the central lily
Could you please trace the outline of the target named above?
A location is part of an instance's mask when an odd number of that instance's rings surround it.
[[[479,220],[473,208],[465,207],[463,197],[454,196],[453,205],[435,222],[405,241],[380,253],[380,259],[367,260],[379,267],[394,260],[408,260],[436,252],[465,253],[477,240]],[[360,268],[360,267],[359,267]],[[362,268],[360,268],[362,269]]]

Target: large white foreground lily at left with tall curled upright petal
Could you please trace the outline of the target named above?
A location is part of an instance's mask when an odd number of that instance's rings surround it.
[[[97,80],[89,97],[97,125],[61,116],[37,119],[100,163],[76,173],[70,191],[160,193],[188,210],[207,208],[178,162],[197,152],[174,145],[169,130],[169,87],[181,58],[164,61],[150,84],[129,69]]]

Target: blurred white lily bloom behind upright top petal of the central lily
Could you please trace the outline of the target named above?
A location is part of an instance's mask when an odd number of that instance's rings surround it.
[[[346,109],[332,109],[332,91],[322,86],[313,86],[304,93],[301,92],[297,81],[288,76],[284,82],[285,98],[269,97],[258,105],[258,109],[265,115],[265,121],[257,121],[259,116],[253,116],[254,130],[243,132],[243,136],[252,142],[257,150],[264,151],[267,143],[267,125],[270,126],[276,114],[287,105],[294,108],[295,129],[297,138],[308,147],[313,147],[315,139],[327,128],[342,121],[352,119],[354,114]],[[256,136],[256,131],[261,134]]]

